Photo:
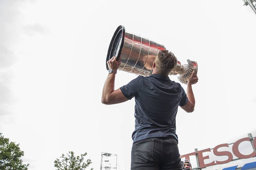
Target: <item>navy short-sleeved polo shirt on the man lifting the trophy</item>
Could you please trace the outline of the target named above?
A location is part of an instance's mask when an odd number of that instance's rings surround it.
[[[140,75],[120,89],[127,99],[135,97],[133,142],[156,137],[174,137],[178,142],[176,114],[178,106],[188,102],[180,83],[161,74]]]

